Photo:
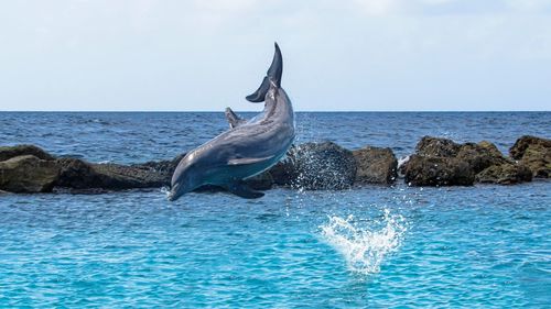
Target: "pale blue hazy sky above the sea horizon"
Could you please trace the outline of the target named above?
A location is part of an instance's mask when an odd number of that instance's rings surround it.
[[[551,110],[551,0],[0,3],[0,110]]]

